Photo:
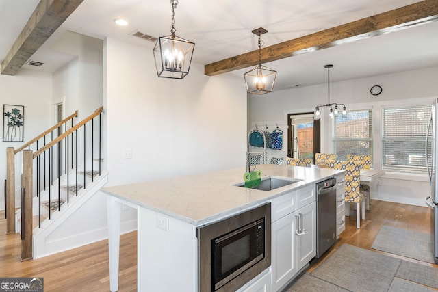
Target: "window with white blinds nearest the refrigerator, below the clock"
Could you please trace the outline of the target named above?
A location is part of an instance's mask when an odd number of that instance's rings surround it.
[[[431,106],[383,109],[383,169],[427,172],[425,147],[431,109]],[[429,152],[431,143],[429,140]]]

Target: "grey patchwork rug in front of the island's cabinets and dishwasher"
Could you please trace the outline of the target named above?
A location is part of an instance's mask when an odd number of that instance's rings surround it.
[[[312,273],[303,273],[283,292],[292,291],[436,291],[438,269],[341,245]]]

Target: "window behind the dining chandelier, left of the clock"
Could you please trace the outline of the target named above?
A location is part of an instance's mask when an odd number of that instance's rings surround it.
[[[347,160],[348,154],[372,155],[372,111],[347,111],[334,120],[333,153],[337,160]]]

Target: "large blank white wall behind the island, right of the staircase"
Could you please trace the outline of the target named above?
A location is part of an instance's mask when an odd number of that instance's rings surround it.
[[[109,185],[245,165],[243,79],[193,63],[182,80],[159,78],[152,50],[111,38],[105,54]]]

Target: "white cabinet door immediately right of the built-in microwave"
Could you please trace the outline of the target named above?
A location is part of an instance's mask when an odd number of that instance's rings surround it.
[[[272,290],[278,291],[298,271],[296,269],[296,212],[272,223]]]

